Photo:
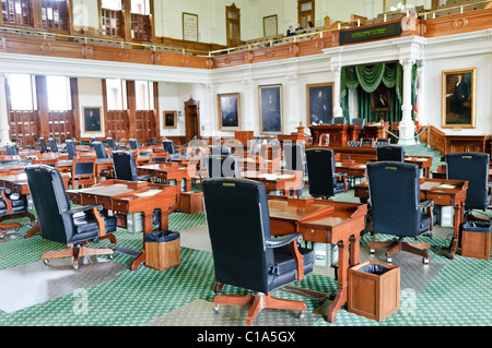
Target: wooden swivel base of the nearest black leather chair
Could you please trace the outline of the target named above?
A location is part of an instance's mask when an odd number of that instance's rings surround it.
[[[222,290],[223,284],[215,284],[215,292]],[[303,301],[278,299],[272,293],[253,292],[249,295],[220,295],[213,299],[213,311],[219,312],[220,304],[250,307],[246,317],[246,325],[251,326],[262,309],[300,311],[300,317],[304,316],[307,305]]]

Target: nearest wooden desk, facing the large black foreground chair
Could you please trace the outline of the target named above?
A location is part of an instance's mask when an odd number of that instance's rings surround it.
[[[333,323],[348,300],[349,267],[359,264],[367,205],[314,200],[303,208],[291,200],[269,195],[271,235],[300,232],[306,241],[338,244],[338,291],[327,313],[327,321]]]

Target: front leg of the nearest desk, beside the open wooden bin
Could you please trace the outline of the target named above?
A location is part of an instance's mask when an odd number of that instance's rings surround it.
[[[335,323],[340,308],[347,302],[349,286],[349,241],[338,242],[338,291],[328,311],[327,321]]]

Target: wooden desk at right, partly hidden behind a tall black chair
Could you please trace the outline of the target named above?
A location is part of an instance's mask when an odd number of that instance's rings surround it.
[[[440,188],[442,184],[453,185],[453,189]],[[467,199],[468,181],[427,179],[420,180],[420,200],[433,200],[436,205],[454,206],[455,220],[453,241],[449,245],[449,259],[454,260],[458,250],[459,226],[464,221],[465,200]],[[367,202],[370,197],[367,181],[354,187],[355,196],[361,202]]]

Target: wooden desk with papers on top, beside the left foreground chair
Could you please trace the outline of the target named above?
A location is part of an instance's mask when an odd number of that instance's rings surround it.
[[[104,180],[89,189],[68,190],[67,196],[74,204],[102,204],[106,211],[122,214],[142,213],[143,233],[152,233],[154,209],[160,209],[161,229],[168,229],[169,207],[176,204],[176,187],[145,181]],[[118,219],[118,226],[126,227]],[[142,239],[143,243],[143,239]],[[145,260],[145,243],[142,252],[130,264],[130,271]]]

